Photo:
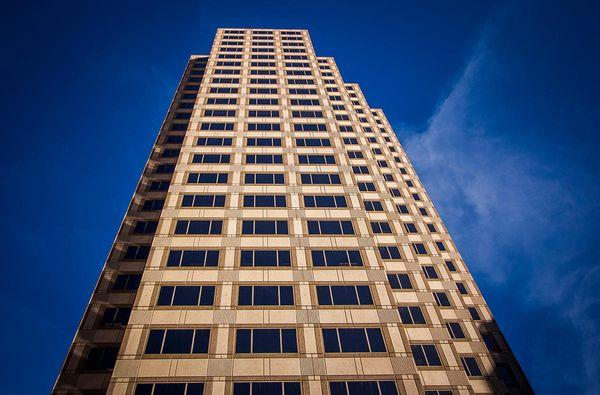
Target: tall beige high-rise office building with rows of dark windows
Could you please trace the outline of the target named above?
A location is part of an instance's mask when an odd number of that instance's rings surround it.
[[[383,112],[307,31],[219,29],[54,393],[531,389]]]

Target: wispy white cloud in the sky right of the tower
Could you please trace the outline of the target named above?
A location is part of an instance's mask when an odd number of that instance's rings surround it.
[[[595,313],[600,263],[591,254],[599,241],[594,233],[599,180],[584,166],[553,157],[544,145],[544,130],[511,119],[512,104],[498,98],[497,90],[511,80],[495,48],[507,17],[488,26],[426,130],[397,129],[459,248],[470,258],[467,264],[487,285],[484,291],[519,292],[524,310],[552,308],[556,320],[579,338],[579,387],[600,393],[594,351],[600,349]],[[522,128],[536,136],[526,146],[519,137]],[[539,361],[533,373],[557,373],[545,371],[544,365]]]

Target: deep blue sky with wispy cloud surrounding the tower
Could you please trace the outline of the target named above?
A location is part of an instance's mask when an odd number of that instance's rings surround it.
[[[3,393],[51,388],[186,60],[227,26],[309,29],[386,112],[536,391],[600,393],[597,4],[14,3]]]

